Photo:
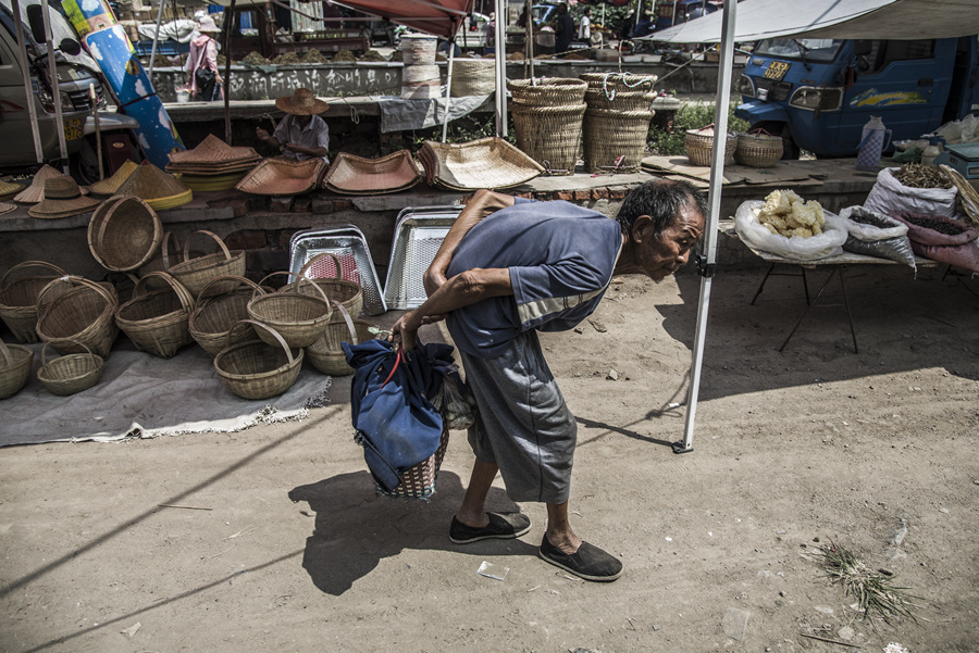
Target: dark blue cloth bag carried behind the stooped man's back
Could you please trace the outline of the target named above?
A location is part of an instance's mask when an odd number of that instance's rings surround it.
[[[347,363],[354,367],[350,409],[355,441],[381,488],[392,491],[401,475],[438,449],[442,415],[430,397],[442,385],[453,348],[422,346],[411,352],[395,349],[384,340],[343,343]]]

